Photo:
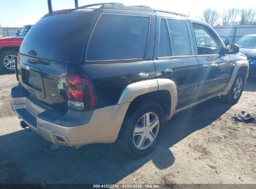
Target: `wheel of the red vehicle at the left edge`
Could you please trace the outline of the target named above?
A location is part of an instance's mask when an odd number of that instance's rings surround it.
[[[0,55],[0,66],[4,71],[15,73],[18,53],[15,50],[5,50]]]

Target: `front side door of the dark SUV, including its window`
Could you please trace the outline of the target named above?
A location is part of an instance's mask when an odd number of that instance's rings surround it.
[[[211,27],[192,22],[199,63],[199,99],[204,99],[224,90],[232,73],[229,55],[224,44]]]

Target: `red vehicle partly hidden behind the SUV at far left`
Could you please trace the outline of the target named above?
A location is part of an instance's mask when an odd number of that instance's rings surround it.
[[[17,36],[0,38],[0,67],[3,70],[15,72],[19,47],[21,47],[22,40],[31,27],[32,25],[24,25]]]

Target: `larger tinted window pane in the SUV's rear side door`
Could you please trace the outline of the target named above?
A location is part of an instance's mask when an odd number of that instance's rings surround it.
[[[168,19],[173,56],[191,55],[189,32],[185,21]]]

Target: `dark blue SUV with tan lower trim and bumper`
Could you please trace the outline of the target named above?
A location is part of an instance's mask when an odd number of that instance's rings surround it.
[[[11,105],[55,145],[117,142],[141,157],[179,111],[218,95],[237,103],[248,70],[205,22],[146,6],[78,7],[29,31]]]

